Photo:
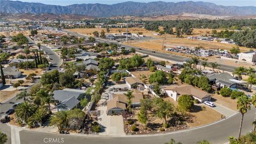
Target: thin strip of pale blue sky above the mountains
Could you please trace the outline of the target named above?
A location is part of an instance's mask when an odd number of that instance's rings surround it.
[[[12,0],[13,1],[13,0]],[[44,3],[44,4],[52,4],[52,5],[71,5],[71,4],[89,4],[89,3],[100,3],[100,4],[115,4],[115,3],[122,3],[122,2],[127,2],[127,1],[133,1],[133,2],[155,2],[159,0],[75,0],[75,1],[70,1],[70,0],[19,0],[22,2],[37,2],[37,3]],[[181,0],[162,0],[164,2],[182,2]],[[195,0],[196,2],[197,0]],[[234,6],[256,6],[256,0],[202,0],[203,2],[210,2],[210,3],[215,3],[217,5],[234,5]]]

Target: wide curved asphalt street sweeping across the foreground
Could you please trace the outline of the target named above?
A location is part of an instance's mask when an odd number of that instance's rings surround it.
[[[244,124],[242,133],[250,132],[253,128],[252,121],[255,114],[255,108],[249,110],[244,117]],[[142,137],[92,137],[92,136],[79,136],[79,135],[65,135],[65,134],[51,134],[34,131],[20,131],[21,143],[44,143],[47,138],[63,138],[63,143],[93,143],[93,144],[113,144],[113,143],[147,143],[147,144],[161,144],[174,139],[182,143],[196,143],[199,140],[209,140],[211,143],[225,143],[228,137],[233,135],[238,136],[239,122],[241,114],[236,114],[233,117],[227,118],[219,123],[192,129],[188,131],[181,131],[163,135],[150,135]],[[33,136],[32,136],[33,135]]]

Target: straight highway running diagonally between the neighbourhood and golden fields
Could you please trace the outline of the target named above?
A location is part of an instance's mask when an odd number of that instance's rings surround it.
[[[84,36],[84,35],[81,35],[81,34],[74,33],[72,31],[67,31],[67,30],[63,30],[63,31],[70,34],[70,35],[75,35],[75,36],[79,36],[79,37],[87,37],[87,36]],[[135,47],[135,46],[130,46],[130,45],[124,45],[124,44],[113,42],[113,41],[110,42],[110,41],[102,40],[102,39],[97,39],[97,41],[106,42],[106,43],[116,43],[116,44],[120,44],[121,46],[125,46],[125,47],[130,48],[130,49],[133,47],[137,52],[140,52],[140,53],[143,53],[143,54],[148,54],[148,55],[153,55],[155,57],[164,58],[164,59],[167,59],[167,60],[172,60],[172,61],[177,61],[177,62],[183,62],[185,60],[190,60],[190,58],[181,57],[179,55],[173,55],[173,54],[170,54],[170,53],[163,53],[163,52],[157,52],[157,51],[155,51],[155,53],[153,53],[152,50],[142,49],[140,47]],[[202,60],[201,60],[201,62],[202,62]],[[234,66],[222,65],[221,63],[219,63],[219,65],[220,65],[219,69],[220,70],[225,70],[225,71],[233,72],[236,68]]]

